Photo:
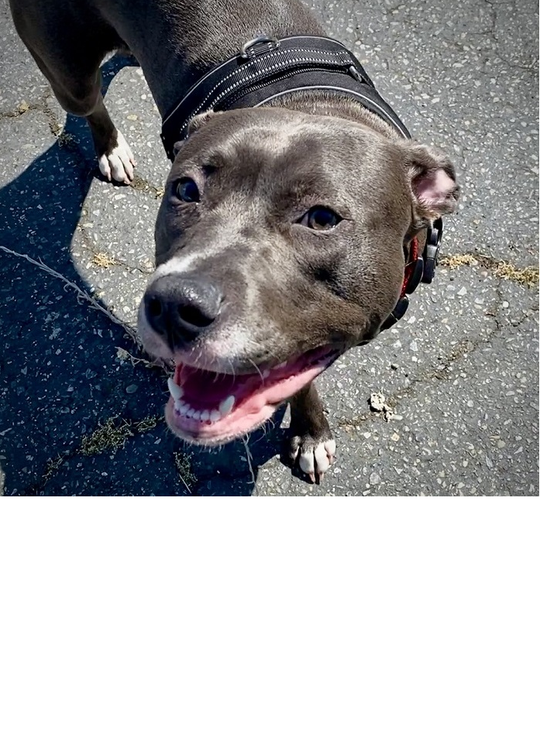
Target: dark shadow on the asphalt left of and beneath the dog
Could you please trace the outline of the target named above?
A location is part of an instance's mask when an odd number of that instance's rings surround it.
[[[102,66],[105,90],[126,65],[136,61],[116,55]],[[0,245],[17,253],[0,250],[0,489],[249,495],[260,466],[279,453],[283,410],[247,447],[186,447],[162,421],[163,371],[126,357],[143,355],[66,284],[96,295],[71,254],[96,175],[89,130],[67,116],[62,138],[0,190]]]

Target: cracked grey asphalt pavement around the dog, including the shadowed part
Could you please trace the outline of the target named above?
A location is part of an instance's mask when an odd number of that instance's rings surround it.
[[[124,327],[152,271],[159,115],[133,60],[104,65],[138,167],[133,186],[101,181],[0,0],[4,495],[538,495],[537,4],[308,5],[463,187],[433,284],[318,381],[337,442],[323,484],[279,460],[288,411],[212,452],[166,429],[166,375]]]

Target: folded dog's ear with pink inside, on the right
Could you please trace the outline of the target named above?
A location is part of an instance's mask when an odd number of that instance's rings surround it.
[[[460,189],[456,171],[448,157],[433,147],[409,143],[407,170],[416,212],[434,220],[457,207]]]

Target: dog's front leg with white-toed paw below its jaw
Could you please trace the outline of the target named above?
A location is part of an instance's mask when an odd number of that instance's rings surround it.
[[[298,462],[312,482],[322,482],[334,460],[336,442],[313,383],[290,399],[291,427],[285,441],[284,461]]]

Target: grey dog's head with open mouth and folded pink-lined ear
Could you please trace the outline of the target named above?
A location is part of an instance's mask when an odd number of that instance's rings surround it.
[[[206,444],[249,432],[373,338],[400,295],[404,241],[456,199],[444,157],[345,119],[196,119],[139,312],[146,349],[176,364],[171,429]]]

